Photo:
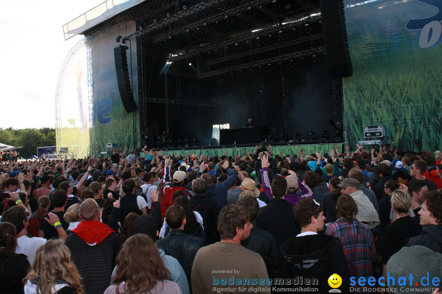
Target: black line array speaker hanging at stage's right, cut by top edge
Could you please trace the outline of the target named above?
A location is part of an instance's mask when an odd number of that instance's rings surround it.
[[[353,73],[348,49],[343,0],[320,0],[324,43],[332,78]]]

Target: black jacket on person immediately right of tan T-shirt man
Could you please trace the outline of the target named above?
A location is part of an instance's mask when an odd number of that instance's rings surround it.
[[[256,227],[256,221],[251,223],[253,228],[250,231],[250,237],[246,241],[241,242],[241,245],[261,255],[266,264],[269,277],[276,277],[279,270],[279,261],[275,237],[269,232]]]

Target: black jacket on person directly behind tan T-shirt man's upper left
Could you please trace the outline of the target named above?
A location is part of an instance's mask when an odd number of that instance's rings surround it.
[[[190,202],[203,218],[206,245],[220,241],[220,234],[217,231],[217,221],[221,209],[218,202],[205,194],[193,195]]]

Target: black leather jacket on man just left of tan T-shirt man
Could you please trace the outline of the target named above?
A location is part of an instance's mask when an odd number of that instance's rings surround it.
[[[184,230],[171,230],[169,234],[157,241],[157,247],[163,249],[167,255],[175,257],[186,273],[187,281],[191,287],[191,274],[193,259],[198,249],[204,245],[199,237],[186,234]]]

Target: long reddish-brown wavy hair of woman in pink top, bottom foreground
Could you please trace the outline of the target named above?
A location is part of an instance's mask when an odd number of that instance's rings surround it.
[[[144,261],[139,262],[143,256]],[[158,281],[166,280],[166,269],[160,252],[147,235],[135,234],[121,247],[116,258],[117,269],[112,282],[124,282],[126,294],[149,293]]]

